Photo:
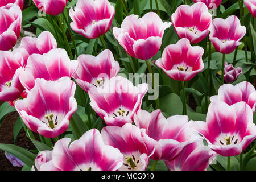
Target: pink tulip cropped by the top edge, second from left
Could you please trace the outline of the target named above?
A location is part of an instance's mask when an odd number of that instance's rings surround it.
[[[33,0],[39,10],[49,15],[59,15],[65,9],[68,0]]]

